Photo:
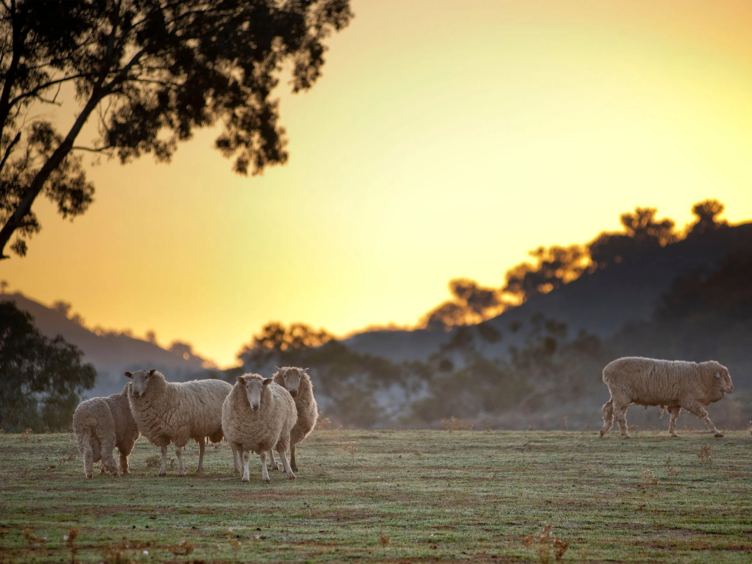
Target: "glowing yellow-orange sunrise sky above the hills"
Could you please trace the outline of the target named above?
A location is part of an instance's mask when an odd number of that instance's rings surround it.
[[[224,367],[270,320],[412,326],[450,279],[499,287],[635,206],[752,220],[752,3],[352,6],[313,89],[280,81],[286,165],[234,174],[218,130],[169,165],[85,156],[95,203],[72,223],[35,203],[8,291]]]

